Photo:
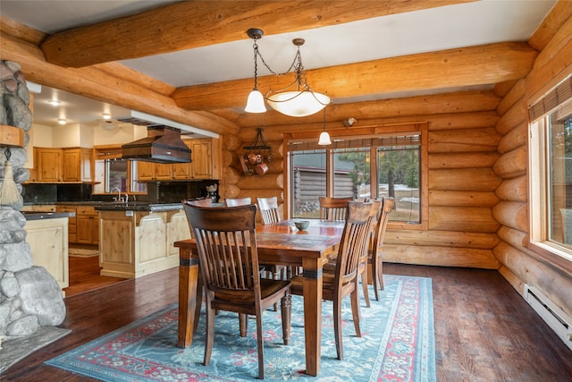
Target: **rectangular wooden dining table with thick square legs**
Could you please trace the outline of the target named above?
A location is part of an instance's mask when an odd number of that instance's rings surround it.
[[[294,222],[299,220],[258,226],[258,260],[265,265],[303,268],[306,373],[317,376],[322,342],[322,269],[338,252],[344,222],[313,219],[306,230],[300,231],[294,227]],[[179,248],[180,259],[178,345],[185,348],[192,344],[195,312],[200,310],[202,300],[202,295],[197,293],[198,253],[194,239],[174,245]]]

